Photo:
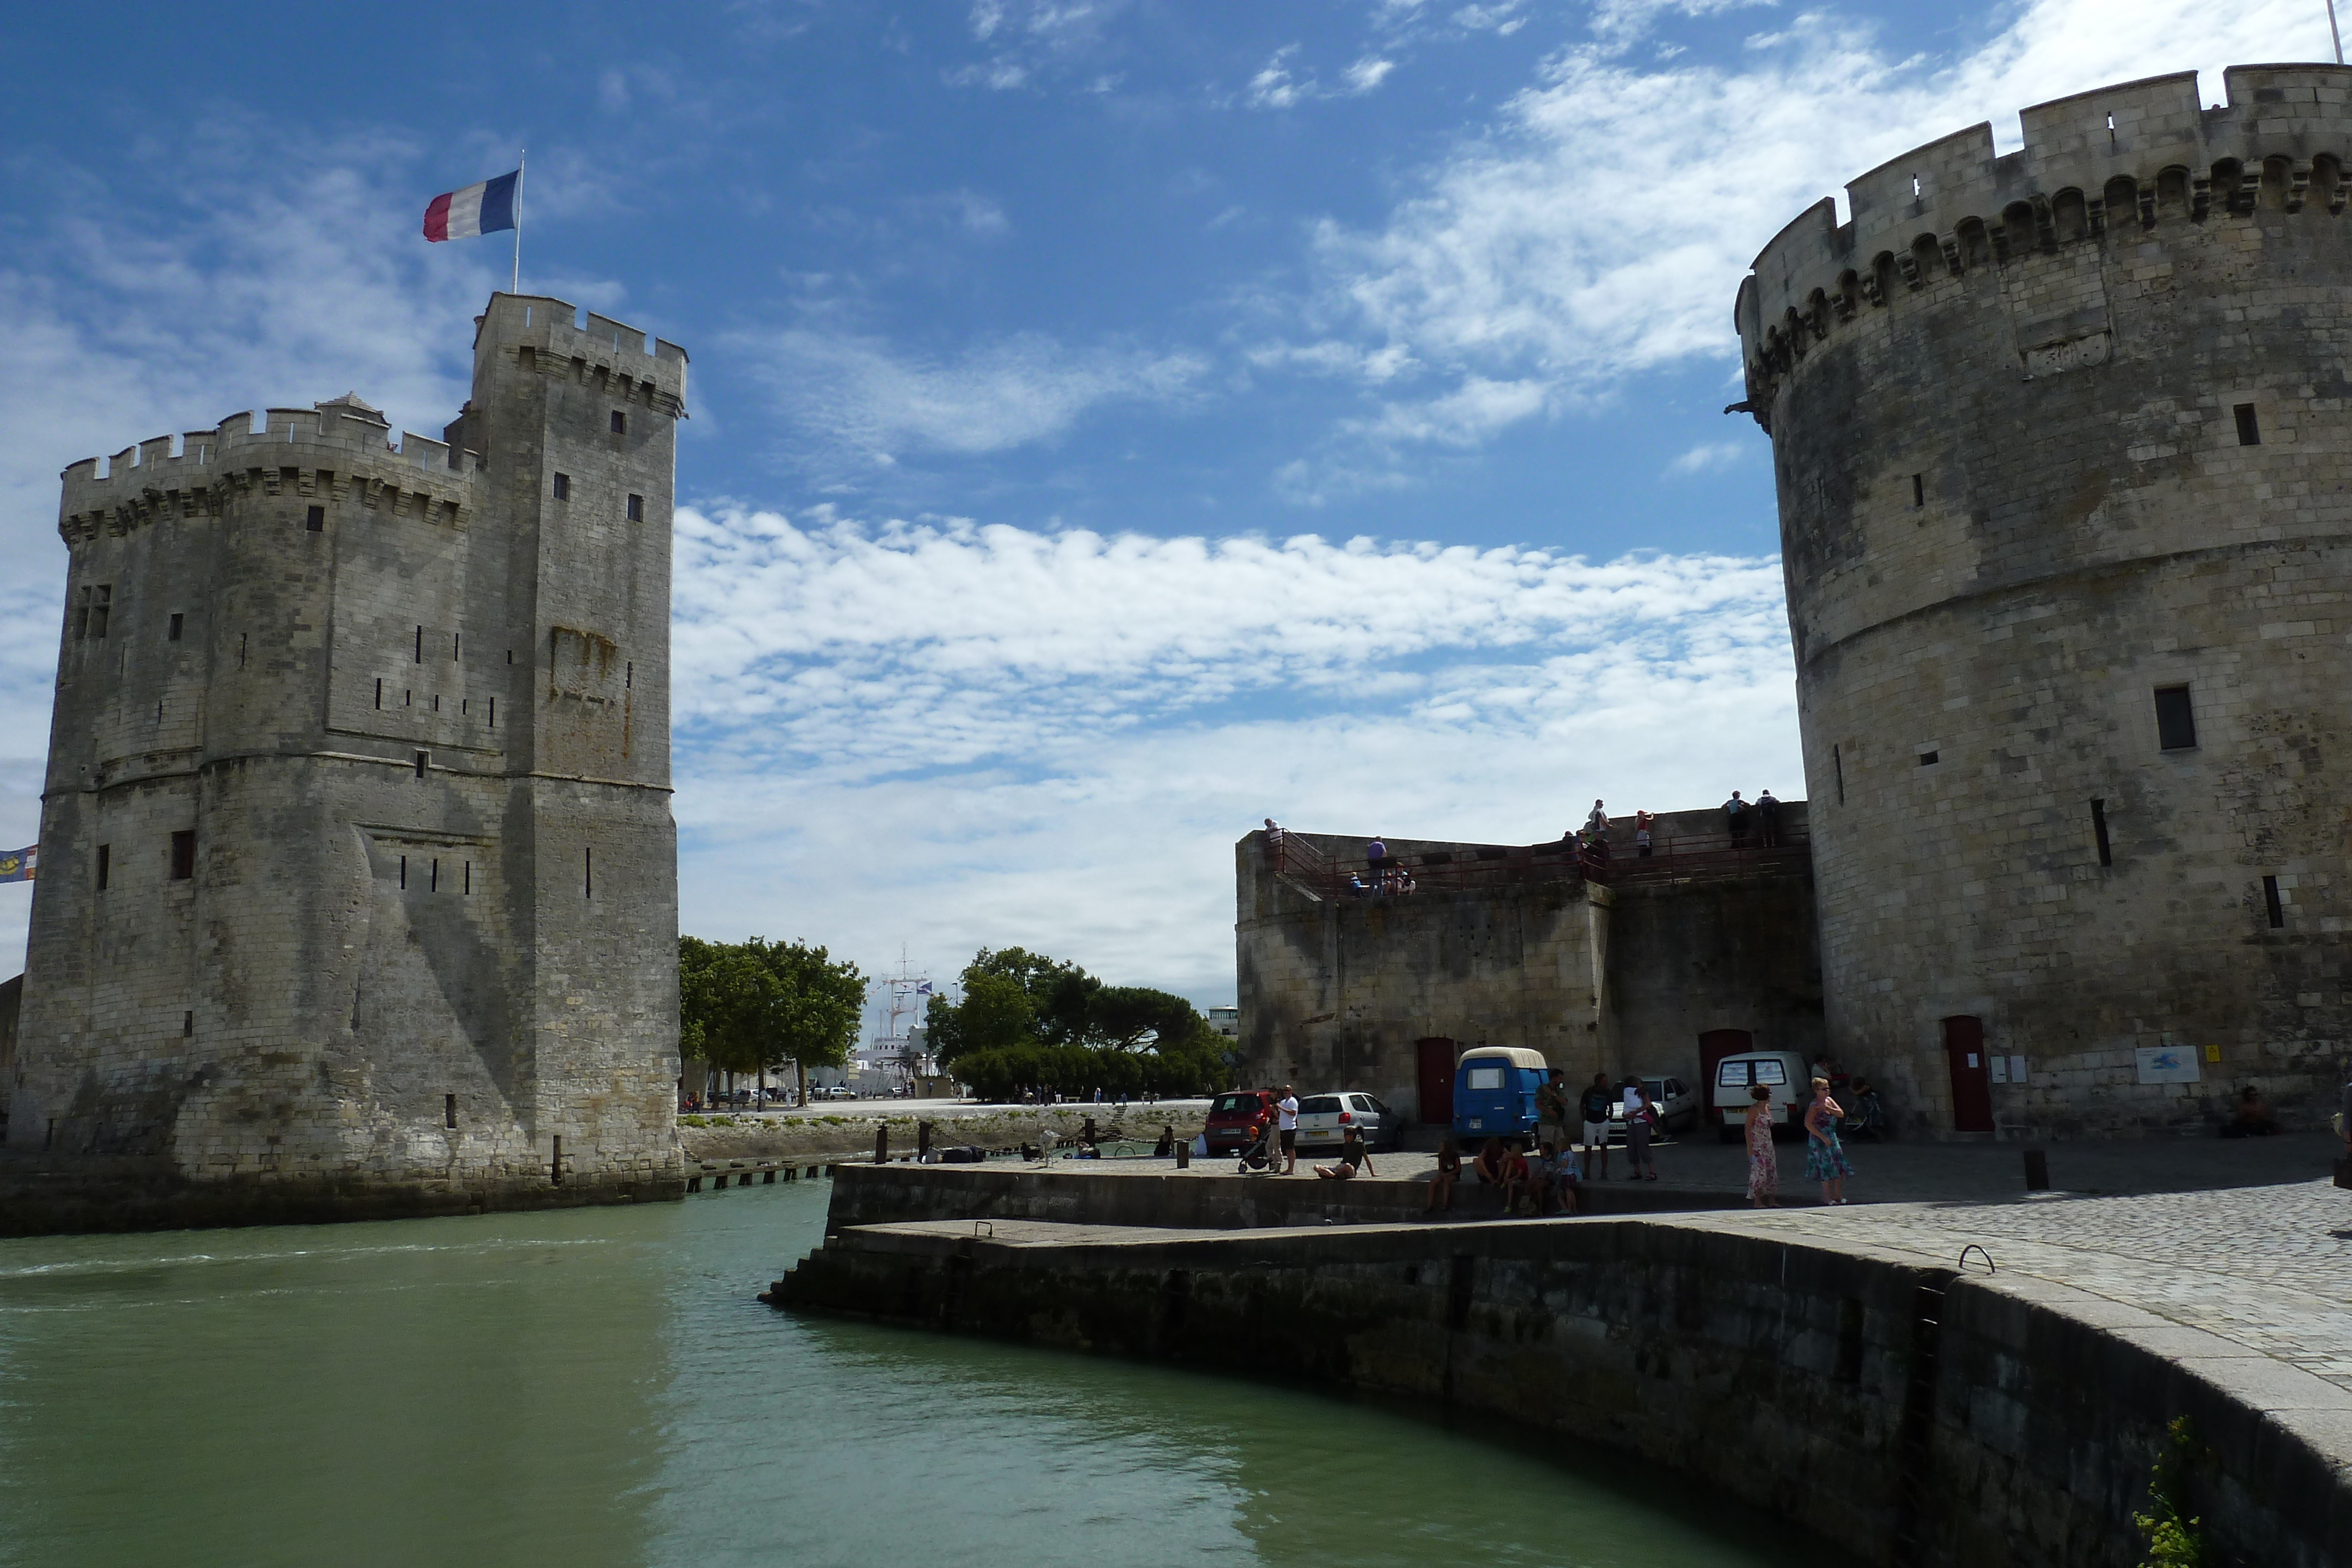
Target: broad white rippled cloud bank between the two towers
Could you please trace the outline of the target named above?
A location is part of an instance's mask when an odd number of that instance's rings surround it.
[[[687,926],[1230,999],[1232,839],[1797,776],[1769,559],[682,510]],[[1764,773],[1757,769],[1764,766]]]

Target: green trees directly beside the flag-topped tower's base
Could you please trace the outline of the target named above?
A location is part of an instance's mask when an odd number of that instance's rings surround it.
[[[866,976],[823,947],[677,938],[677,1034],[684,1056],[727,1072],[849,1060],[866,1011]]]

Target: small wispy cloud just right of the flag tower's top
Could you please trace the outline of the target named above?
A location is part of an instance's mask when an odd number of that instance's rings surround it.
[[[1070,350],[1040,334],[981,343],[955,360],[880,339],[790,329],[741,339],[779,411],[833,456],[1002,451],[1047,442],[1112,402],[1176,402],[1207,371],[1185,353]]]

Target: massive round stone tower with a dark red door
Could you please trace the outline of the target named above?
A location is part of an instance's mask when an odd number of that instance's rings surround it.
[[[1738,294],[1832,1048],[1924,1131],[2288,1117],[2352,1039],[2352,71],[1931,141]]]

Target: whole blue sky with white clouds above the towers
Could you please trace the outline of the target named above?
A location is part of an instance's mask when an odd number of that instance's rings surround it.
[[[0,839],[56,470],[358,390],[524,289],[694,357],[684,924],[1232,992],[1232,839],[1802,792],[1731,296],[1804,205],[2319,0],[47,9],[0,99]],[[101,21],[103,19],[103,21]],[[0,952],[24,889],[0,889]],[[0,969],[7,959],[0,959]]]

